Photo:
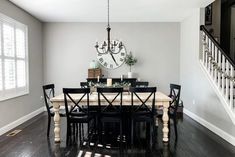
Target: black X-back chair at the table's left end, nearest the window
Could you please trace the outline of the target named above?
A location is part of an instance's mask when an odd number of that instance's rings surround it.
[[[50,98],[55,96],[55,85],[54,84],[44,85],[42,86],[42,89],[43,89],[44,101],[45,101],[47,114],[48,114],[47,137],[49,137],[51,118],[54,117],[55,115]],[[62,110],[62,109],[60,109],[59,114],[60,114],[60,117],[66,116],[65,110]]]

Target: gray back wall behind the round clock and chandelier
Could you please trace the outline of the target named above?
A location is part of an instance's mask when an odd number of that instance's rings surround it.
[[[138,63],[133,67],[141,80],[168,93],[169,83],[179,82],[179,23],[111,23],[111,38],[122,39]],[[78,87],[87,78],[89,63],[96,59],[96,40],[107,38],[106,23],[46,23],[43,27],[44,83]],[[105,76],[127,75],[126,65],[103,69]]]

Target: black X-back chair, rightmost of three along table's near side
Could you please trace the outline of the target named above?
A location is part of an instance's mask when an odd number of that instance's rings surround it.
[[[136,123],[145,122],[149,125],[150,146],[153,144],[155,122],[156,87],[132,87],[131,92],[131,145],[134,144]],[[145,95],[143,97],[143,94]],[[147,125],[146,124],[146,125]],[[148,129],[146,129],[146,134]],[[146,135],[147,136],[147,135]]]

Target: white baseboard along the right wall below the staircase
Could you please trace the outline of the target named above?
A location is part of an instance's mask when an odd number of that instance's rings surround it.
[[[198,123],[200,123],[201,125],[203,125],[204,127],[208,128],[209,130],[217,134],[218,136],[220,136],[221,138],[223,138],[224,140],[226,140],[227,142],[229,142],[230,144],[232,144],[233,146],[235,146],[234,136],[228,134],[227,132],[221,130],[220,128],[216,127],[215,125],[209,123],[205,119],[197,116],[196,114],[192,113],[191,111],[185,108],[184,108],[184,113],[189,117],[191,117],[192,119],[194,119],[195,121],[197,121]]]

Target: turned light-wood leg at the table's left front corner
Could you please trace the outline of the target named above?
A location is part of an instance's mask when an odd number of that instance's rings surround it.
[[[53,109],[54,109],[54,133],[55,133],[55,142],[60,142],[60,104],[59,103],[53,103]]]

